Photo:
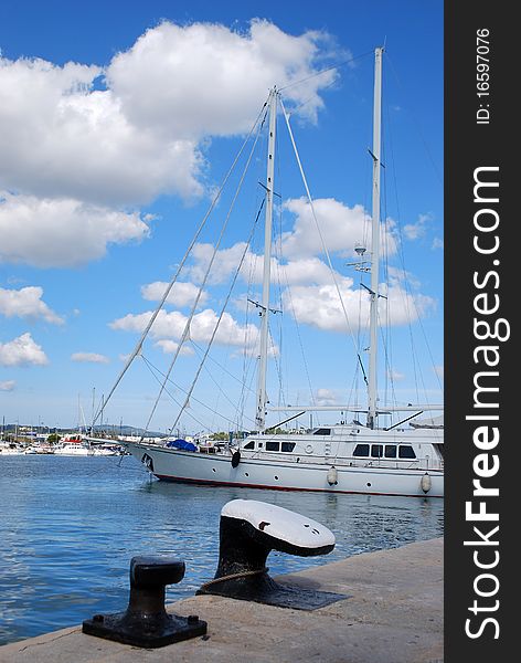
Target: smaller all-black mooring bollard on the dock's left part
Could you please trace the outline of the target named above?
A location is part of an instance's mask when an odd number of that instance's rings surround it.
[[[88,635],[141,648],[159,648],[206,633],[198,615],[178,617],[164,609],[164,588],[184,577],[184,561],[166,557],[132,557],[130,598],[125,612],[95,614],[83,622]]]

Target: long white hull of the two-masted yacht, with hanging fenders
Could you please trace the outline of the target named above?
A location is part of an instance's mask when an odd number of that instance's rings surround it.
[[[296,463],[280,457],[247,459],[236,467],[231,454],[205,454],[178,451],[142,443],[126,443],[128,451],[159,480],[279,491],[320,491],[403,496],[444,496],[444,473],[428,471],[429,490],[425,492],[424,469],[363,467],[336,465],[337,483],[331,485],[331,464]]]

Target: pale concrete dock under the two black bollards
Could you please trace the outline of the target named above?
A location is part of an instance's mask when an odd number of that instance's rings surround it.
[[[203,638],[143,650],[85,635],[77,625],[1,646],[0,662],[443,661],[443,538],[357,555],[277,580],[349,598],[307,612],[222,597],[191,597],[168,609],[208,621]]]

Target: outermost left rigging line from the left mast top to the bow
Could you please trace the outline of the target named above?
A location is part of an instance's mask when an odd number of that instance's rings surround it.
[[[132,361],[136,359],[136,357],[137,357],[137,356],[139,355],[139,352],[141,351],[142,344],[145,343],[145,339],[147,338],[147,336],[148,336],[148,333],[150,332],[150,328],[152,327],[153,323],[156,322],[156,318],[158,317],[158,315],[159,315],[159,312],[160,312],[160,311],[161,311],[161,308],[164,306],[164,303],[166,303],[166,301],[167,301],[167,298],[168,298],[168,296],[169,296],[169,294],[170,294],[170,292],[171,292],[171,290],[172,290],[172,287],[173,287],[174,283],[177,282],[177,280],[178,280],[178,277],[179,277],[179,274],[181,273],[181,270],[183,269],[183,266],[184,266],[184,263],[185,263],[185,262],[187,262],[187,260],[188,260],[188,256],[190,255],[190,253],[191,253],[191,251],[192,251],[192,249],[193,249],[193,246],[194,246],[195,242],[198,241],[198,239],[199,239],[199,236],[200,236],[200,234],[201,234],[201,232],[202,232],[202,230],[203,230],[204,225],[206,224],[206,221],[208,221],[208,219],[209,219],[210,214],[212,213],[212,211],[213,211],[213,209],[215,208],[215,206],[216,206],[216,203],[217,203],[219,199],[221,198],[221,194],[222,194],[222,192],[223,192],[223,190],[224,190],[224,187],[226,186],[226,182],[227,182],[227,180],[230,179],[230,177],[231,177],[232,172],[235,170],[235,166],[237,165],[237,161],[238,161],[238,159],[241,158],[241,155],[243,154],[243,151],[244,151],[244,149],[245,149],[246,145],[248,144],[248,141],[249,141],[249,138],[252,137],[252,135],[253,135],[253,133],[254,133],[254,130],[255,130],[255,127],[256,127],[256,126],[257,126],[257,124],[259,123],[259,120],[260,120],[260,117],[262,117],[262,115],[263,115],[263,113],[264,113],[264,118],[263,118],[263,119],[262,119],[262,122],[260,122],[260,128],[259,128],[259,131],[260,131],[260,129],[262,129],[262,127],[263,127],[263,125],[264,125],[264,122],[265,122],[265,119],[266,119],[266,115],[267,115],[267,108],[266,108],[266,106],[267,106],[267,102],[265,102],[265,103],[264,103],[264,106],[262,107],[262,109],[260,109],[259,114],[258,114],[258,115],[257,115],[257,117],[255,118],[255,122],[254,122],[254,124],[252,125],[252,128],[249,129],[249,133],[248,133],[248,135],[247,135],[247,136],[246,136],[246,138],[244,139],[244,141],[243,141],[243,144],[242,144],[242,146],[241,146],[240,150],[237,151],[237,154],[236,154],[236,156],[235,156],[235,159],[233,160],[233,162],[232,162],[231,167],[228,168],[228,171],[227,171],[227,172],[226,172],[226,175],[224,176],[224,179],[222,180],[220,188],[217,189],[217,191],[216,191],[215,196],[213,197],[213,200],[212,200],[212,202],[211,202],[211,204],[210,204],[209,209],[206,210],[206,213],[204,214],[204,217],[203,217],[203,219],[202,219],[202,221],[201,221],[201,223],[200,223],[200,225],[199,225],[198,230],[195,231],[195,234],[193,235],[193,239],[192,239],[192,241],[190,242],[190,245],[189,245],[189,248],[188,248],[187,252],[184,253],[184,255],[183,255],[183,259],[182,259],[182,261],[180,262],[180,264],[179,264],[179,266],[178,266],[178,270],[177,270],[177,272],[176,272],[176,274],[174,274],[173,278],[171,280],[171,282],[169,283],[169,285],[168,285],[167,290],[164,291],[164,294],[163,294],[163,296],[162,296],[162,298],[161,298],[161,301],[160,301],[160,303],[159,303],[158,307],[156,308],[156,311],[153,312],[152,316],[150,317],[150,320],[148,322],[148,325],[146,326],[145,330],[142,332],[142,334],[141,334],[141,337],[139,338],[139,340],[138,340],[138,343],[137,343],[136,347],[134,348],[132,352],[131,352],[131,354],[130,354],[130,356],[128,357],[128,359],[127,359],[127,361],[126,361],[126,364],[125,364],[124,368],[121,369],[121,372],[120,372],[120,373],[119,373],[119,376],[117,377],[117,379],[116,379],[116,382],[114,383],[113,388],[111,388],[111,389],[110,389],[110,391],[108,392],[108,396],[107,396],[107,398],[105,399],[105,402],[103,403],[103,407],[102,407],[102,408],[98,408],[98,410],[97,410],[97,412],[96,412],[95,417],[93,418],[93,423],[92,423],[92,427],[93,427],[93,428],[94,428],[94,424],[96,423],[96,421],[98,420],[98,417],[99,417],[99,414],[100,414],[100,413],[102,413],[102,411],[103,411],[103,408],[105,408],[105,407],[106,407],[106,404],[107,404],[108,400],[110,399],[110,397],[113,396],[113,393],[116,391],[116,389],[117,389],[117,387],[118,387],[119,382],[121,381],[123,377],[125,376],[125,373],[126,373],[126,372],[127,372],[127,370],[129,369],[129,367],[130,367],[131,362],[132,362]]]

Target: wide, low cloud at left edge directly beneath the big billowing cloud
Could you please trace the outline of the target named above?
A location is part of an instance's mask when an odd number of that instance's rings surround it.
[[[71,267],[102,257],[110,243],[147,236],[137,212],[125,213],[72,199],[0,197],[0,262]]]

